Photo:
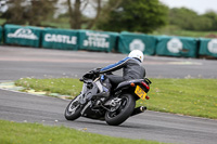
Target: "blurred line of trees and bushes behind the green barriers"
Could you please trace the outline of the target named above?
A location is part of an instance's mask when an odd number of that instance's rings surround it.
[[[152,32],[166,25],[186,30],[217,30],[217,13],[169,9],[158,0],[4,0],[5,23],[41,26],[53,16],[67,17],[72,29]]]

